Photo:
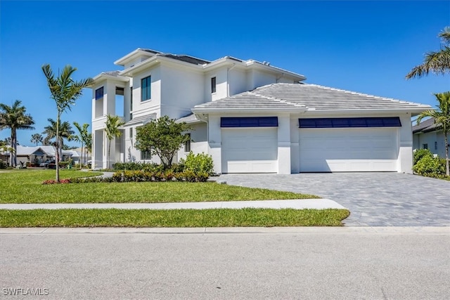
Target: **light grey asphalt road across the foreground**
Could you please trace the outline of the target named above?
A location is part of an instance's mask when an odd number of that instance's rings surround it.
[[[450,299],[449,228],[40,231],[0,229],[0,299]]]

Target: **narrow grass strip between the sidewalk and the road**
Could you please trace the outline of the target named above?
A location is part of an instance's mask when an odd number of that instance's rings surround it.
[[[342,226],[346,209],[0,210],[0,227]]]

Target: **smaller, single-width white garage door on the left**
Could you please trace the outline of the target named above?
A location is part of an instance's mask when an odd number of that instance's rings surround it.
[[[277,128],[222,129],[222,173],[276,173]]]

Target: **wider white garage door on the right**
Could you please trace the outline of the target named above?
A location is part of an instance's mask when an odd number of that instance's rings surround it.
[[[397,171],[397,129],[300,129],[301,172]]]

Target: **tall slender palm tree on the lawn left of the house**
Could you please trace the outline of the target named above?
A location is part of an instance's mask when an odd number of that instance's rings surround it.
[[[77,70],[76,67],[66,65],[63,71],[55,77],[50,65],[43,65],[42,72],[47,79],[47,86],[49,86],[51,98],[55,100],[56,110],[58,115],[56,117],[56,136],[59,136],[58,129],[60,117],[63,112],[70,110],[70,105],[75,105],[75,100],[82,96],[82,90],[93,83],[91,78],[75,81],[72,79],[72,74]],[[58,139],[57,139],[58,140]],[[58,141],[56,142],[56,152],[58,152]],[[59,182],[59,165],[56,159],[56,182]]]

